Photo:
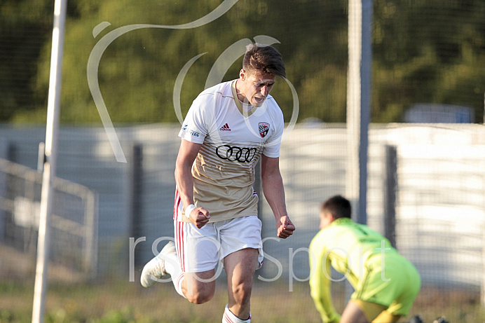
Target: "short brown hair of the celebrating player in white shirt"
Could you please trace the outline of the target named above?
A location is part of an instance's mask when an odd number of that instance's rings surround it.
[[[252,43],[246,47],[246,53],[242,59],[242,69],[250,74],[254,71],[262,71],[265,74],[286,78],[285,63],[280,52],[272,46],[264,46],[259,43]]]

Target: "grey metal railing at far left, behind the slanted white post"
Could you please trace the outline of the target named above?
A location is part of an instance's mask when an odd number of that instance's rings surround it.
[[[34,271],[42,174],[0,159],[0,252],[2,272]],[[50,221],[53,279],[78,281],[97,273],[97,195],[86,186],[55,178]],[[8,256],[8,254],[15,256]],[[24,266],[19,266],[19,262]]]

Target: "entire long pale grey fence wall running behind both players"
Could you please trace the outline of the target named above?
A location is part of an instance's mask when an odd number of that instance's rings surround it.
[[[100,226],[95,237],[101,275],[128,277],[132,269],[128,263],[130,238],[145,239],[132,250],[134,272],[139,275],[153,256],[153,242],[172,236],[178,130],[179,125],[166,124],[118,129],[128,157],[124,164],[116,163],[102,129],[61,129],[60,174],[100,196]],[[4,133],[16,147],[17,161],[32,164],[34,142],[41,140],[42,131],[32,135],[34,130],[29,129],[28,136],[22,135],[26,133],[22,129]],[[390,147],[395,153],[392,158]],[[297,230],[288,240],[275,239],[274,217],[260,191],[264,251],[274,259],[265,261],[261,277],[278,276],[276,280],[285,284],[306,280],[309,268],[304,249],[318,231],[322,200],[345,194],[347,158],[345,125],[303,123],[285,138],[280,169],[287,208]],[[393,235],[397,249],[416,264],[424,284],[467,291],[484,286],[484,160],[482,125],[371,125],[367,222],[371,228]],[[29,172],[29,176],[37,175]],[[22,198],[35,191],[20,184],[16,187]],[[59,205],[74,207],[73,197],[58,196],[64,200]],[[39,197],[34,195],[34,200]],[[25,205],[21,200],[17,203],[18,208]],[[14,207],[10,202],[10,209]],[[35,240],[29,238],[29,232],[16,227],[22,237],[16,238],[16,247],[32,248]],[[163,244],[158,249],[161,247]]]

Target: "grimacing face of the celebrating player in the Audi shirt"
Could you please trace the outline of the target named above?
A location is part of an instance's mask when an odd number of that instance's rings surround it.
[[[252,106],[261,106],[264,103],[269,92],[275,85],[276,76],[254,71],[248,73],[244,69],[240,71],[240,80],[242,82],[238,90],[240,95],[244,96],[244,102]]]

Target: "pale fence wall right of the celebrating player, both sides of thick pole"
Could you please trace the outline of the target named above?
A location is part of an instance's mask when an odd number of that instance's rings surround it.
[[[319,205],[345,194],[345,147],[346,129],[336,125],[296,128],[282,144],[287,208],[297,231],[290,240],[268,240],[265,251],[282,263],[284,280],[309,275],[304,248],[318,231]],[[394,240],[423,284],[474,293],[483,288],[485,128],[374,126],[367,167],[367,224]],[[275,236],[266,203],[262,214],[264,236]],[[277,266],[266,265],[264,276],[275,277]]]

